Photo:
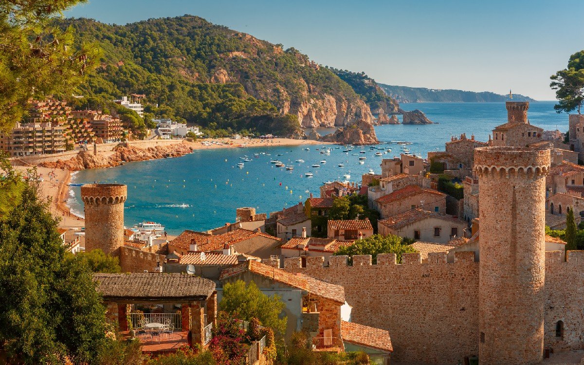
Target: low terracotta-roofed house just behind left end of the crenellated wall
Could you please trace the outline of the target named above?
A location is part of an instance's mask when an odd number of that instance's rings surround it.
[[[315,237],[295,237],[280,246],[283,258],[301,258],[306,263],[307,257],[322,256],[325,265],[328,265],[328,258],[334,255],[341,246],[350,246],[354,241],[340,241],[334,238]]]

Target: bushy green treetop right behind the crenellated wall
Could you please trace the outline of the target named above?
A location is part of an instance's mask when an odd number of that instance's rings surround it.
[[[382,235],[374,234],[371,237],[357,239],[350,246],[341,246],[335,252],[335,255],[349,256],[350,265],[353,264],[353,255],[371,255],[373,265],[376,265],[379,253],[395,253],[397,263],[401,263],[401,254],[411,252],[416,252],[416,250],[409,245],[409,241],[404,242],[401,237],[395,235],[383,237]]]

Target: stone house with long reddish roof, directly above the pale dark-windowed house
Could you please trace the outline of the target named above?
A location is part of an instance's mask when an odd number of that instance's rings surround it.
[[[446,212],[446,194],[418,185],[408,185],[376,200],[381,218],[391,217],[414,208]]]

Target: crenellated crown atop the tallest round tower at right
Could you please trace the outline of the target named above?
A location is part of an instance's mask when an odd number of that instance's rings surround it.
[[[550,169],[550,150],[526,147],[479,147],[474,151],[475,171],[502,178],[543,176]]]

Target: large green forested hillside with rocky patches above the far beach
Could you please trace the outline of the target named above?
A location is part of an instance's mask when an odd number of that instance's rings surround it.
[[[160,105],[145,107],[155,117],[234,131],[292,135],[297,117],[280,115],[323,93],[356,101],[353,89],[326,68],[308,67],[294,48],[282,51],[266,41],[213,25],[197,16],[106,25],[64,19],[80,42],[103,48],[98,69],[80,92],[79,107],[106,105],[112,96],[144,93]],[[307,86],[310,85],[310,88]]]

